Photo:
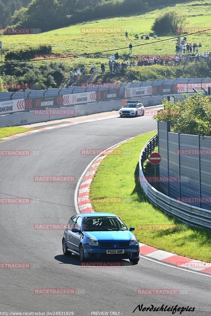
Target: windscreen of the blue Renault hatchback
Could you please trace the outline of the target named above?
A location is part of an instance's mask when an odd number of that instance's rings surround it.
[[[127,227],[119,217],[93,216],[84,218],[84,231],[118,231],[127,230]]]

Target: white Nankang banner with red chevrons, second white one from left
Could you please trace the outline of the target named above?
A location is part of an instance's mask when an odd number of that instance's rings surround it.
[[[96,102],[96,92],[83,92],[63,95],[64,106]]]

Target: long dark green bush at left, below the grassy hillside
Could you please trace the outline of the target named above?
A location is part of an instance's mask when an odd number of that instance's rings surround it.
[[[27,47],[25,49],[12,49],[5,53],[5,60],[33,59],[36,54],[52,53],[51,45],[40,45],[38,47]]]

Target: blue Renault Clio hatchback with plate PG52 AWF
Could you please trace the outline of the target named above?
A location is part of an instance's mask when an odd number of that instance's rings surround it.
[[[79,255],[81,261],[89,259],[129,259],[139,261],[139,242],[133,235],[134,227],[127,228],[116,215],[109,213],[83,213],[71,217],[64,231],[64,255]]]

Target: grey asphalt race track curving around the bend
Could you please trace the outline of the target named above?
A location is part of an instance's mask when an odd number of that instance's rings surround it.
[[[121,268],[81,268],[77,256],[62,253],[63,230],[36,230],[36,223],[64,223],[75,214],[78,178],[94,156],[81,149],[107,149],[129,137],[157,129],[149,116],[113,118],[49,130],[0,143],[0,149],[33,155],[0,157],[0,197],[28,197],[30,204],[1,206],[1,262],[30,263],[30,269],[0,269],[0,310],[74,312],[74,315],[172,315],[143,307],[195,307],[182,315],[210,315],[209,275],[175,269],[140,258]],[[140,148],[141,150],[141,148]],[[74,175],[73,183],[34,182],[36,175]],[[39,202],[39,203],[38,203]],[[133,216],[133,214],[131,214]],[[141,242],[141,240],[140,240]],[[129,263],[129,261],[125,260]],[[38,288],[71,288],[74,295],[35,295]],[[177,295],[136,294],[137,289],[177,289]],[[179,315],[176,312],[174,315]]]

